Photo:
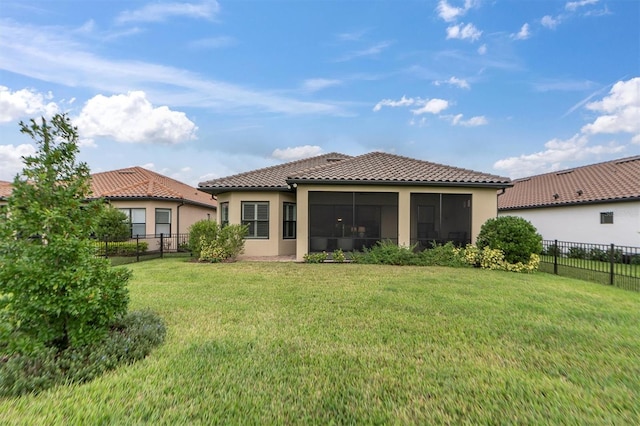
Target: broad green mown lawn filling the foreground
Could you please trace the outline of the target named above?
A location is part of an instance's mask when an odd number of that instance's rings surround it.
[[[142,362],[0,399],[1,424],[640,423],[640,294],[549,274],[130,267]]]

